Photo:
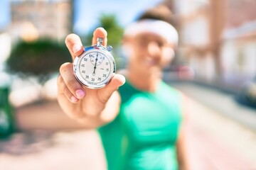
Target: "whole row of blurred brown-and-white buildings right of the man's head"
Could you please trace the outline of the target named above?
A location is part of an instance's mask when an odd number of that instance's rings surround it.
[[[255,0],[173,0],[172,4],[179,54],[195,69],[197,80],[235,89],[256,74]]]

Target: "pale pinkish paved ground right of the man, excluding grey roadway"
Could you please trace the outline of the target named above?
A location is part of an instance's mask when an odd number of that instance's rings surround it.
[[[188,157],[191,169],[256,169],[256,135],[201,103],[190,101]]]

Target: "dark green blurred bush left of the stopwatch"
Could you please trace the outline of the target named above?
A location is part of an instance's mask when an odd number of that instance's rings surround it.
[[[21,41],[11,51],[7,66],[10,72],[47,77],[70,60],[67,47],[52,40]]]

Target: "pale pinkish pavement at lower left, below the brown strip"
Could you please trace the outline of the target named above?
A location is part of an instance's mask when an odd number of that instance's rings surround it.
[[[104,170],[99,137],[92,130],[33,130],[0,141],[3,170]]]

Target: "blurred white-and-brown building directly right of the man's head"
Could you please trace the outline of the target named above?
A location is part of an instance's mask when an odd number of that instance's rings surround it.
[[[197,79],[218,76],[219,47],[223,29],[223,1],[175,1],[180,33],[180,55],[196,72]]]

